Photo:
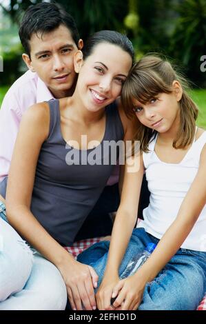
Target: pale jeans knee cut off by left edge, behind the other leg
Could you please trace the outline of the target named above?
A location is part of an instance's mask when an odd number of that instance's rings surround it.
[[[30,247],[0,215],[0,303],[10,294],[22,290],[30,276],[32,264]]]

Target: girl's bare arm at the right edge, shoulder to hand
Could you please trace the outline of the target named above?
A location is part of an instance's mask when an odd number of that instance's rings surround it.
[[[119,307],[124,301],[122,310],[136,309],[141,302],[145,284],[152,281],[165,267],[191,232],[206,203],[205,165],[206,145],[200,155],[200,165],[196,177],[181,204],[175,221],[169,226],[150,258],[136,274],[115,287],[114,296],[118,294],[119,290],[121,292],[114,301],[114,307]]]

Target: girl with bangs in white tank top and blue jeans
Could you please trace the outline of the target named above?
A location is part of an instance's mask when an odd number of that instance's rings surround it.
[[[99,282],[105,270],[96,294],[100,310],[195,310],[206,290],[206,132],[195,125],[198,110],[185,80],[157,56],[134,65],[122,98],[126,114],[138,119],[141,150],[130,160],[140,165],[125,173],[108,259],[109,244],[96,243],[78,260],[87,263],[92,254],[88,264]],[[132,232],[144,170],[150,204]],[[150,259],[119,281],[132,254],[150,242],[157,244]]]

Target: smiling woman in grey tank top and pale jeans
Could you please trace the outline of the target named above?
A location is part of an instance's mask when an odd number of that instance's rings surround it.
[[[62,245],[72,244],[112,173],[114,165],[103,164],[104,142],[132,139],[131,123],[121,106],[112,102],[121,94],[133,56],[132,43],[123,34],[97,32],[83,52],[74,54],[79,78],[72,97],[39,103],[25,112],[10,167],[6,206],[10,224],[38,253],[33,266],[30,255],[28,259],[22,255],[23,268],[13,272],[6,289],[7,265],[12,267],[6,261],[15,244],[9,250],[5,244],[1,310],[64,309],[66,289],[73,309],[96,308],[96,272],[75,261]],[[97,163],[89,163],[95,154]],[[18,234],[5,221],[3,240],[8,237],[7,227],[19,243]],[[21,245],[28,250],[24,242]],[[14,270],[16,265],[17,261]],[[16,285],[18,276],[22,280]],[[42,294],[34,287],[42,287]]]

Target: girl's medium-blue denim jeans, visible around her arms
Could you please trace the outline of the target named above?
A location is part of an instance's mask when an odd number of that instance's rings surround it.
[[[158,239],[136,228],[119,267],[123,273],[134,254]],[[91,265],[99,275],[100,285],[107,263],[110,242],[102,241],[79,254],[78,261]],[[158,276],[145,286],[138,310],[196,310],[206,291],[206,252],[179,249]]]

